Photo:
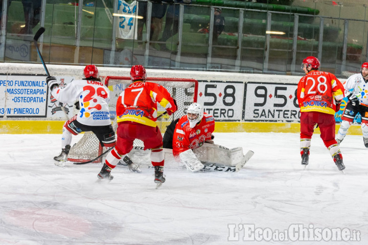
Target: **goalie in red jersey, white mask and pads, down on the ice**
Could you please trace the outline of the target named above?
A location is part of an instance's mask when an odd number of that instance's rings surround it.
[[[176,161],[185,164],[191,171],[238,171],[253,155],[249,151],[243,156],[241,147],[227,149],[214,144],[212,133],[215,119],[203,113],[202,106],[193,103],[187,115],[174,120],[164,135],[164,148],[173,149]]]

